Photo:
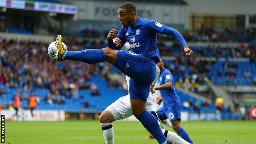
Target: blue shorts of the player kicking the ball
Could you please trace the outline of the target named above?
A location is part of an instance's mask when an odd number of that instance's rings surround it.
[[[155,61],[126,50],[118,50],[115,66],[130,77],[130,99],[146,101],[149,96],[149,86],[155,79]]]

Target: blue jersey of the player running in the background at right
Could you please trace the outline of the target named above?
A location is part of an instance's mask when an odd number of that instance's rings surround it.
[[[181,100],[175,91],[174,79],[171,72],[167,69],[162,69],[158,78],[158,83],[159,85],[163,85],[168,81],[172,82],[171,89],[160,90],[160,93],[162,95],[162,101],[164,104],[163,106],[170,107],[170,106],[181,105]]]

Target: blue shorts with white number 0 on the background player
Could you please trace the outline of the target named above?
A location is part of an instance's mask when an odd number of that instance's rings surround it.
[[[161,107],[156,113],[161,121],[165,119],[170,121],[181,120],[181,106]]]

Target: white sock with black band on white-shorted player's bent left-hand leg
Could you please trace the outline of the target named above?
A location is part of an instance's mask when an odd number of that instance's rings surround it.
[[[100,123],[106,144],[114,144],[114,129],[111,123]]]

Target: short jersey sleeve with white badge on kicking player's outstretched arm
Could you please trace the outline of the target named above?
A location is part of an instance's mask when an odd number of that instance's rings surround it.
[[[150,33],[162,33],[165,30],[165,25],[158,23],[155,20],[148,20],[146,23],[146,30]]]

